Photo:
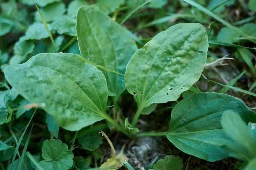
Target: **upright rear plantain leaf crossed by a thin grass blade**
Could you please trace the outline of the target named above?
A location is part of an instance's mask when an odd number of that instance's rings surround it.
[[[90,6],[79,9],[76,32],[82,57],[118,73],[125,73],[129,59],[137,50],[125,28]],[[118,97],[125,90],[124,77],[101,71],[107,79],[110,94]]]

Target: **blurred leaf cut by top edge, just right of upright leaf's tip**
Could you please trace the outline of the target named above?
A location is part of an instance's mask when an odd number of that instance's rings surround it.
[[[125,3],[125,0],[97,0],[99,9],[104,14],[109,14],[115,11],[119,6]]]

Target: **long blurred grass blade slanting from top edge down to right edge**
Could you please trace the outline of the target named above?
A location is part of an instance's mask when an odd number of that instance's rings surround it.
[[[246,37],[248,40],[250,40],[251,42],[256,43],[256,37],[254,36],[250,36],[246,33],[244,33],[243,31],[241,31],[241,29],[232,26],[230,23],[228,23],[227,21],[223,20],[221,17],[219,17],[218,15],[214,14],[212,11],[210,11],[209,9],[199,5],[198,3],[192,1],[192,0],[183,0],[186,3],[189,3],[190,5],[198,8],[200,11],[203,11],[204,13],[208,14],[209,16],[211,16],[212,18],[214,18],[215,20],[217,20],[218,22],[222,23],[224,26],[229,27],[231,29],[233,29],[234,31],[236,31],[238,34]]]

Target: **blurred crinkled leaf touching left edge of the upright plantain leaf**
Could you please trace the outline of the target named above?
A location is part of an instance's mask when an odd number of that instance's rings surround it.
[[[58,34],[76,35],[76,20],[70,16],[58,17],[52,22],[51,26],[52,29],[57,30]]]

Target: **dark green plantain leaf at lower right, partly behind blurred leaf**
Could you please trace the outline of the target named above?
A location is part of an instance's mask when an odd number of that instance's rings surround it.
[[[166,136],[185,153],[207,161],[223,159],[229,154],[222,149],[222,141],[229,138],[221,126],[221,116],[230,109],[245,122],[256,121],[256,113],[233,96],[198,93],[175,105]]]

